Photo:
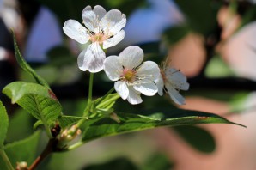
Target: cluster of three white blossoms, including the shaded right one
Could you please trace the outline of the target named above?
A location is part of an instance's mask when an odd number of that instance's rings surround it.
[[[123,27],[126,17],[117,9],[106,11],[100,5],[94,9],[87,6],[82,10],[85,27],[78,21],[64,23],[64,33],[71,39],[88,46],[79,54],[77,64],[80,70],[96,73],[104,70],[114,81],[114,88],[123,100],[139,104],[141,94],[153,96],[168,92],[176,104],[185,104],[179,90],[187,90],[189,84],[179,70],[159,68],[155,62],[143,62],[143,50],[138,46],[128,46],[119,56],[106,58],[105,49],[117,45],[125,37]]]

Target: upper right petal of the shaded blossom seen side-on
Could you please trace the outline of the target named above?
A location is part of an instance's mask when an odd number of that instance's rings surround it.
[[[180,70],[174,68],[165,71],[167,81],[176,89],[188,90],[189,84],[186,82],[186,76]]]

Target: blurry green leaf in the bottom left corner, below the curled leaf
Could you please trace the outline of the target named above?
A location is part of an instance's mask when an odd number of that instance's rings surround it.
[[[27,164],[30,165],[36,158],[39,141],[40,131],[36,131],[32,136],[26,139],[7,144],[4,150],[9,156],[12,166],[16,167],[16,162],[18,161],[27,161]],[[3,165],[1,158],[0,165]]]

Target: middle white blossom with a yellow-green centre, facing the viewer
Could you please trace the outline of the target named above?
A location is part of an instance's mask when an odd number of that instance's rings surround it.
[[[152,61],[142,62],[143,50],[138,46],[128,46],[119,56],[110,56],[104,61],[108,78],[116,81],[115,90],[133,105],[143,101],[140,94],[152,96],[157,93],[158,65]]]

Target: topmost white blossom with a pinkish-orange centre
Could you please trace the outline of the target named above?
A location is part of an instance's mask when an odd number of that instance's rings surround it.
[[[78,57],[78,67],[83,71],[99,72],[106,58],[102,50],[117,45],[125,37],[122,29],[126,17],[117,9],[108,12],[100,5],[87,6],[82,10],[83,27],[76,20],[64,22],[64,33],[81,44],[90,42]]]

